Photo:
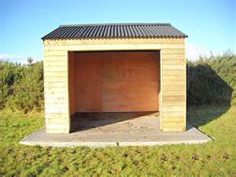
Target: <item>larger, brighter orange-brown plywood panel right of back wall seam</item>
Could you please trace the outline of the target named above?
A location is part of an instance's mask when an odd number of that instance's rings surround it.
[[[103,60],[103,111],[157,111],[158,54],[114,52]]]

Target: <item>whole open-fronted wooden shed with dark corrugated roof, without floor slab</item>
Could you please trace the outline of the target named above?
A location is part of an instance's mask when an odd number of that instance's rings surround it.
[[[63,25],[44,36],[47,133],[76,112],[159,111],[162,131],[186,128],[187,36],[163,23]]]

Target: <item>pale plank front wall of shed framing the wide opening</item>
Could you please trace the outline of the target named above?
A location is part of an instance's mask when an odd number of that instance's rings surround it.
[[[70,107],[69,51],[160,50],[160,128],[162,131],[184,131],[186,128],[186,60],[183,38],[45,40],[44,91],[45,121],[48,133],[69,133]],[[74,60],[72,60],[73,62]],[[93,79],[93,78],[90,78]],[[76,88],[76,87],[74,87]],[[72,89],[73,90],[73,89]],[[76,89],[75,89],[76,90]],[[99,97],[99,95],[94,95]],[[79,99],[78,99],[79,100]],[[74,100],[76,102],[76,100]],[[88,103],[90,104],[90,103]]]

